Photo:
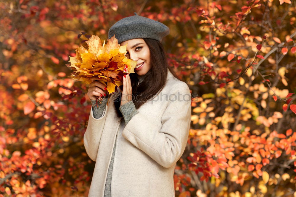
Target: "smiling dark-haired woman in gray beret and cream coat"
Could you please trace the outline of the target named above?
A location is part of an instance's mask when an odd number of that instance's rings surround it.
[[[175,196],[173,174],[189,135],[191,95],[166,61],[160,42],[169,29],[135,15],[112,25],[108,38],[114,34],[140,67],[98,108],[96,96],[106,95],[106,86],[89,85],[93,107],[83,141],[96,162],[89,196]]]

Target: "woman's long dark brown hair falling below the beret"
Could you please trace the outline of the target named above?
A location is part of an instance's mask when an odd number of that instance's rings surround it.
[[[168,61],[163,49],[163,45],[158,40],[150,38],[143,38],[143,40],[148,45],[150,50],[151,69],[147,72],[144,80],[141,83],[139,83],[139,79],[137,78],[136,73],[129,74],[131,78],[131,87],[133,89],[133,103],[135,104],[136,109],[139,109],[141,105],[149,101],[153,96],[156,96],[157,93],[160,92],[163,87],[165,87],[168,69],[173,74],[173,76],[178,79],[177,74],[170,66],[168,66]],[[122,88],[123,85],[120,86],[120,89]],[[117,97],[117,99],[114,100],[116,113],[119,118],[123,117],[122,113],[119,110],[121,95],[122,92],[120,92],[120,95]],[[136,99],[134,99],[135,95]]]

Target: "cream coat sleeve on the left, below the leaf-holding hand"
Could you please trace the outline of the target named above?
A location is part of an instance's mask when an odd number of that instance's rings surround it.
[[[100,118],[95,118],[93,109],[91,108],[89,121],[83,136],[83,145],[85,147],[86,153],[93,161],[96,161],[96,155],[98,153],[99,144],[105,125],[107,110],[108,105],[106,105],[102,116]]]

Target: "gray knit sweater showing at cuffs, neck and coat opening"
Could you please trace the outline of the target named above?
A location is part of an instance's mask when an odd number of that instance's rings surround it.
[[[144,79],[145,75],[143,76],[138,76],[139,82],[142,82]],[[98,104],[98,108],[95,106],[96,100],[91,100],[92,103],[92,110],[94,114],[94,118],[101,118],[102,114],[106,108],[108,98],[103,98],[101,104]],[[124,105],[121,105],[119,107],[120,112],[123,115],[124,122],[125,124],[128,123],[128,121],[131,120],[131,118],[139,113],[139,111],[136,109],[135,105],[133,104],[133,101],[129,101],[125,103]],[[105,185],[105,193],[104,197],[110,197],[111,196],[111,178],[112,178],[112,170],[113,170],[113,161],[114,161],[114,153],[115,153],[115,145],[116,145],[116,138],[115,138],[115,144],[113,146],[113,152],[112,152],[112,157],[111,157],[111,162],[109,165],[108,169],[108,174],[107,174],[107,180],[106,180],[106,185]]]

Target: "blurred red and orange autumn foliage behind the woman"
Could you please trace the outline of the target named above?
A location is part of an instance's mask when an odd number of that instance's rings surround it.
[[[296,196],[295,4],[2,0],[0,196],[87,196],[91,103],[65,65],[133,12],[170,28],[169,64],[198,94],[176,196]]]

